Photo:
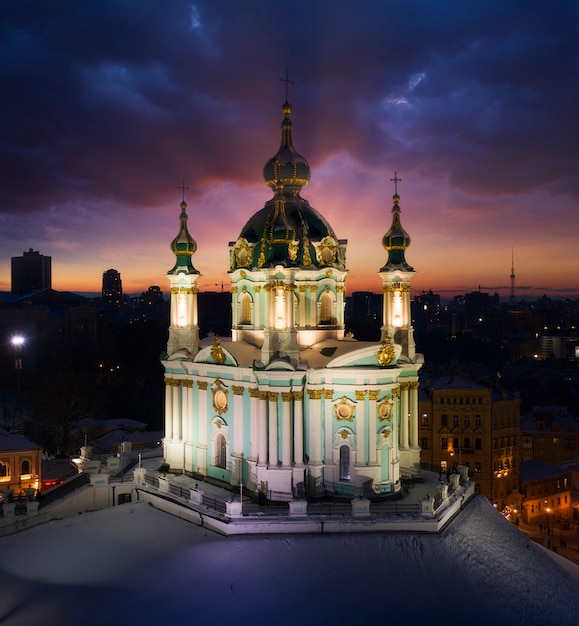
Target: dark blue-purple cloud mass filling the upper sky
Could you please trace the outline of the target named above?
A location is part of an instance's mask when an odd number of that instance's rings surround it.
[[[578,7],[10,2],[0,215],[50,211],[60,224],[74,205],[171,205],[182,179],[191,200],[208,185],[259,185],[286,68],[296,145],[314,177],[348,154],[362,168],[449,185],[467,211],[536,190],[576,206]]]

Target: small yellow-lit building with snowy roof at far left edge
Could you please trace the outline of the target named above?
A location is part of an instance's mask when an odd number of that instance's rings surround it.
[[[0,429],[0,491],[12,489],[15,497],[25,489],[39,489],[42,448],[22,435]]]

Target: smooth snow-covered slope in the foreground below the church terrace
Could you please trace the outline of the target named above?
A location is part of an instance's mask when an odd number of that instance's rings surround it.
[[[482,497],[439,535],[225,538],[130,503],[0,539],[0,624],[577,626],[552,556]]]

